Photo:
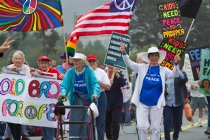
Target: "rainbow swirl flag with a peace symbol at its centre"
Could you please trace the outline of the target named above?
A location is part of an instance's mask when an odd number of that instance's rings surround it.
[[[36,31],[63,26],[60,0],[1,0],[0,30]]]

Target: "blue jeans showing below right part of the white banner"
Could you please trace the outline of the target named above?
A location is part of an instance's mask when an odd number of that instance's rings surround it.
[[[54,140],[56,128],[42,127],[43,140]]]

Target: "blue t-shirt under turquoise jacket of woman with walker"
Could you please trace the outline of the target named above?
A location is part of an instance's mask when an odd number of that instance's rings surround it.
[[[74,90],[77,93],[88,94],[87,85],[85,82],[85,73],[77,74],[75,73],[74,78]]]

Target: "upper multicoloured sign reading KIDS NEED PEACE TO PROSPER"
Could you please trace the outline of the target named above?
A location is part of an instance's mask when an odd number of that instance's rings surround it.
[[[158,5],[163,38],[183,36],[182,19],[177,2]]]

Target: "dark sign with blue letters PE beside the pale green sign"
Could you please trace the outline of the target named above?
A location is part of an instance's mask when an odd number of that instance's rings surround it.
[[[210,47],[202,47],[202,48],[193,48],[188,51],[191,68],[193,72],[194,80],[199,80],[200,75],[200,60],[201,60],[201,50],[206,49],[210,50]]]

